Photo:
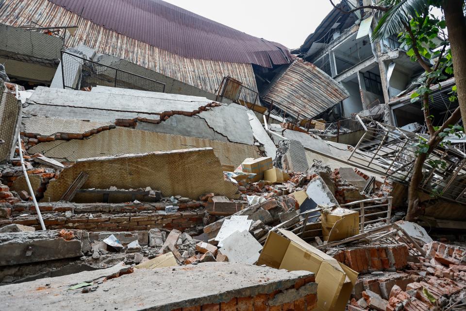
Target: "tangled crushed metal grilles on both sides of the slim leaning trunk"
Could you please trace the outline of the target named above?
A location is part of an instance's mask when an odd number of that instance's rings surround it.
[[[393,180],[409,183],[419,152],[419,143],[425,135],[408,132],[395,126],[371,121],[366,133],[351,152],[348,161],[363,165]],[[423,179],[419,189],[459,203],[466,203],[466,154],[461,150],[440,144],[423,165]]]

